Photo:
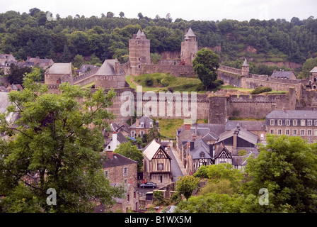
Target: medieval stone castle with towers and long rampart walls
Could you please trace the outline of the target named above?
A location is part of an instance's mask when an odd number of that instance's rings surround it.
[[[150,40],[142,31],[138,31],[129,40],[129,61],[125,64],[120,64],[117,60],[105,60],[99,69],[75,77],[72,81],[69,79],[69,65],[62,65],[60,70],[54,70],[53,65],[45,73],[45,84],[48,85],[50,92],[57,92],[58,85],[62,82],[71,82],[71,84],[79,84],[80,86],[95,82],[96,88],[103,87],[105,91],[114,88],[117,97],[113,101],[110,111],[113,111],[117,116],[115,122],[125,123],[129,116],[123,117],[120,114],[120,107],[124,103],[120,99],[122,92],[132,92],[134,104],[137,104],[136,92],[129,88],[125,82],[126,74],[166,72],[171,73],[174,77],[195,77],[192,60],[195,58],[198,46],[196,35],[191,28],[185,33],[178,59],[159,60],[154,64],[150,58],[150,46]],[[247,60],[243,62],[241,70],[221,65],[218,69],[219,79],[222,79],[226,84],[250,89],[267,86],[274,90],[287,91],[287,94],[231,95],[226,94],[226,92],[224,94],[197,94],[197,118],[208,119],[209,123],[225,123],[230,117],[264,119],[271,111],[282,110],[282,108],[315,110],[317,109],[316,73],[311,74],[310,79],[279,79],[268,75],[251,74]],[[190,103],[190,95],[188,99]],[[148,101],[142,96],[143,105],[147,104]],[[166,113],[167,102],[166,100]],[[181,100],[173,99],[173,116],[163,116],[162,118],[187,118],[186,116],[175,116],[177,102],[183,106]],[[159,116],[159,113],[156,116]]]

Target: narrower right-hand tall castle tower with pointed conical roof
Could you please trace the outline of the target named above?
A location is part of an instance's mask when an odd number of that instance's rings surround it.
[[[180,59],[184,61],[185,65],[192,65],[192,60],[195,59],[198,51],[198,43],[196,35],[192,31],[192,28],[188,29],[188,32],[184,36],[184,41],[181,45]]]

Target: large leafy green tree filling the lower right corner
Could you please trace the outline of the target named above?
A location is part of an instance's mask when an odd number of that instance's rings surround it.
[[[317,211],[317,146],[300,137],[268,135],[260,155],[248,159],[244,194],[268,191],[270,212]]]

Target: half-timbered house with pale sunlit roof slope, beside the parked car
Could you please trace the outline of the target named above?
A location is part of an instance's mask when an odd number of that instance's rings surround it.
[[[155,139],[142,150],[144,177],[154,183],[171,182],[171,157]]]

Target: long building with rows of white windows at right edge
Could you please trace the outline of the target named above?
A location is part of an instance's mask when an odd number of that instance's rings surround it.
[[[317,111],[272,111],[266,116],[267,133],[300,136],[309,143],[317,141]]]

